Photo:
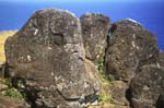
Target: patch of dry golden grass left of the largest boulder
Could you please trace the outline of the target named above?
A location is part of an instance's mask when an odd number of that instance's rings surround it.
[[[8,37],[13,36],[15,33],[16,33],[16,31],[0,32],[0,64],[5,61],[4,43]]]

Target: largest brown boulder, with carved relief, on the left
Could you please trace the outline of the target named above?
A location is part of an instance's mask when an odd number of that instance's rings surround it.
[[[35,12],[7,40],[5,55],[13,83],[23,80],[33,107],[80,108],[85,97],[96,95],[94,74],[85,68],[80,21],[68,11]]]

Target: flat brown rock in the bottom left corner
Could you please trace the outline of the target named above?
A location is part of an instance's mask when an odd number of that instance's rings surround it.
[[[30,108],[25,101],[0,95],[0,108]]]

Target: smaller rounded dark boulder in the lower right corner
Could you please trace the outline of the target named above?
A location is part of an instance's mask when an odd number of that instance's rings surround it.
[[[133,108],[155,108],[164,94],[164,69],[154,64],[143,65],[130,84]]]

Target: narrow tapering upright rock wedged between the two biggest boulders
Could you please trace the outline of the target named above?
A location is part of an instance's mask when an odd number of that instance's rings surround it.
[[[85,13],[80,20],[86,58],[96,63],[105,52],[109,17],[97,13]]]

